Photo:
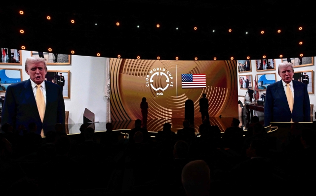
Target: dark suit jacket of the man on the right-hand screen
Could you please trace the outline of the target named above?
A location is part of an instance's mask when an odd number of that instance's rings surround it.
[[[265,99],[265,126],[271,122],[310,122],[311,107],[307,85],[293,80],[294,105],[291,113],[282,80],[267,87]]]

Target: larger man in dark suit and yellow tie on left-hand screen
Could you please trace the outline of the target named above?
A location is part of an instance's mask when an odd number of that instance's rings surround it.
[[[61,88],[44,80],[46,62],[39,57],[27,58],[25,71],[30,79],[9,85],[2,108],[2,125],[17,129],[36,123],[36,133],[44,136],[56,123],[65,124],[65,103]]]

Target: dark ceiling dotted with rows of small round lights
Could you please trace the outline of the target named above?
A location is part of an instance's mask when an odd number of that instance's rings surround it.
[[[23,15],[19,14],[20,10],[24,11]],[[71,54],[74,50],[75,55],[85,56],[100,53],[101,57],[116,58],[119,54],[130,59],[137,56],[141,59],[160,56],[168,60],[175,57],[241,60],[247,56],[261,59],[263,55],[279,58],[281,54],[283,57],[316,56],[314,15],[312,4],[304,0],[1,3],[0,45],[16,49],[24,45],[26,50],[34,51],[52,48],[61,54]],[[47,16],[51,19],[47,20]],[[299,27],[303,30],[299,31]]]

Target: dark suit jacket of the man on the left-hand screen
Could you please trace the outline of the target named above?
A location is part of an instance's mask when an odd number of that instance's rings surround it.
[[[2,107],[2,125],[8,123],[17,129],[19,125],[28,127],[34,122],[37,125],[36,133],[40,134],[43,129],[45,134],[55,130],[56,123],[65,124],[65,103],[61,88],[45,81],[45,90],[46,108],[42,123],[30,79],[9,85]]]

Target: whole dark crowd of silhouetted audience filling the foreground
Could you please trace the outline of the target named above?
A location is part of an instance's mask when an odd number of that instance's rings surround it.
[[[56,124],[42,138],[36,124],[0,133],[0,195],[307,195],[316,175],[316,131],[292,123],[286,137],[265,131],[257,117],[248,130],[233,118],[223,133],[204,119],[173,132],[142,128],[95,133],[81,125],[66,135]],[[196,125],[197,126],[197,125]],[[196,127],[195,126],[195,127]],[[222,128],[221,128],[222,129]],[[22,189],[22,190],[21,190]],[[302,192],[302,190],[304,191]]]

